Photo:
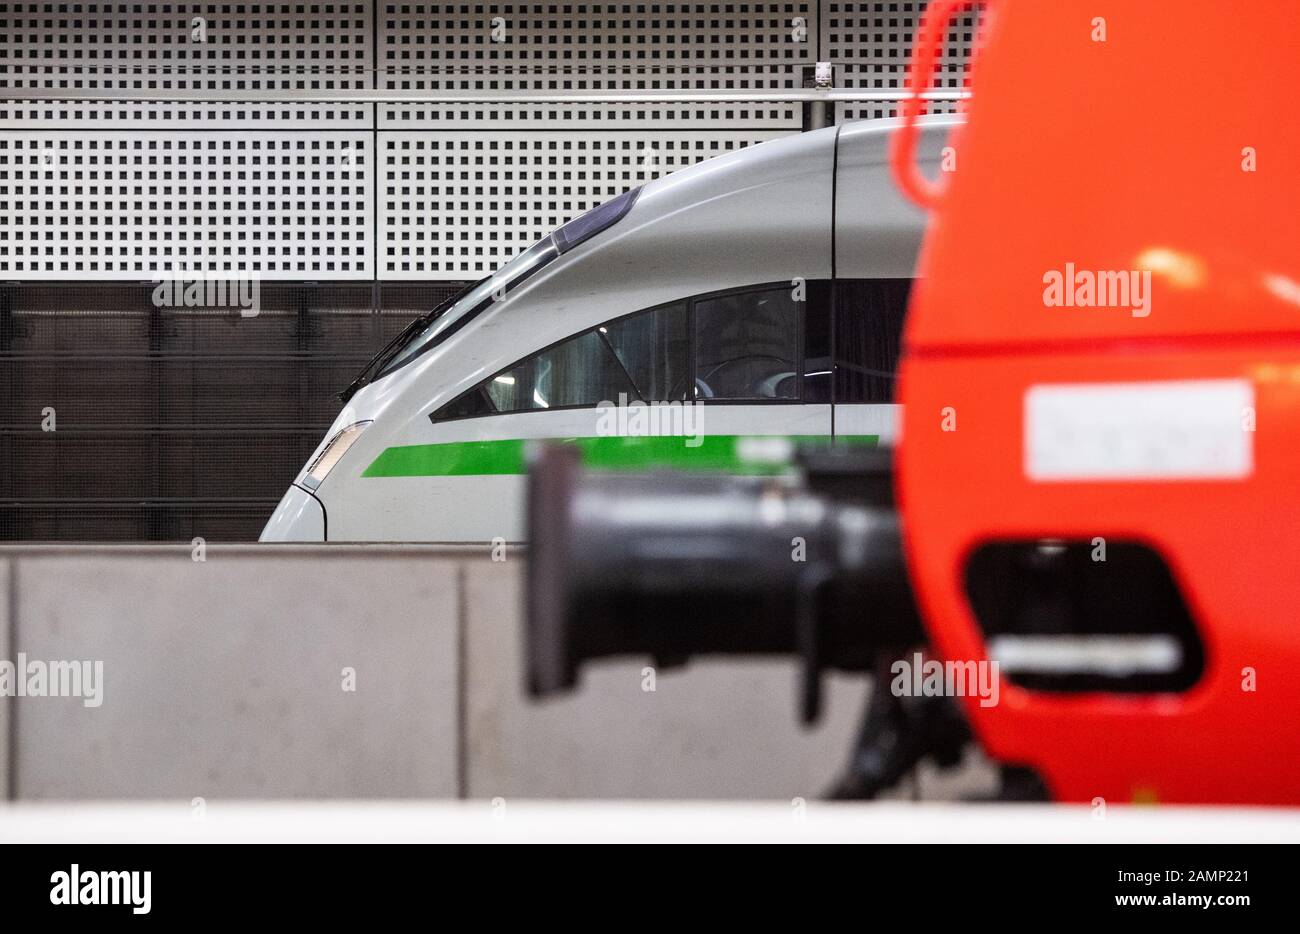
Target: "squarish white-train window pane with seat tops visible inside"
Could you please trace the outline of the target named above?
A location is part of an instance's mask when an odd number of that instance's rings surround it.
[[[800,316],[794,286],[697,299],[696,398],[800,398]]]

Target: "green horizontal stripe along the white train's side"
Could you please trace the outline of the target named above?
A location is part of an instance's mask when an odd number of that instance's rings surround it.
[[[545,441],[569,444],[582,451],[582,463],[595,470],[679,470],[727,474],[771,475],[786,464],[754,460],[742,455],[744,441],[763,441],[774,436],[706,434],[697,438],[680,434],[610,436],[584,438],[507,438],[503,441],[450,441],[441,445],[389,447],[365,468],[361,476],[500,476],[528,471],[528,445]],[[832,444],[826,434],[775,436],[793,444]],[[835,444],[876,445],[876,434],[840,434]]]

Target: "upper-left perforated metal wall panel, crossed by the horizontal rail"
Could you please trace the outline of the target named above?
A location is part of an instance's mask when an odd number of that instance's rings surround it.
[[[6,88],[364,88],[372,4],[0,3]],[[70,75],[88,75],[74,81]],[[190,104],[0,100],[5,127],[367,127],[365,104]]]

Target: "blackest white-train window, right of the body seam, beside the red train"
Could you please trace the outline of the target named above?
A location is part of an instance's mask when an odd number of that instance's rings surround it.
[[[893,402],[910,278],[835,284],[835,401]]]

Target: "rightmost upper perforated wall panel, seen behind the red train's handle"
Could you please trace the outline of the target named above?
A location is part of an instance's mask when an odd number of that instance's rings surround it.
[[[823,0],[822,53],[835,64],[836,85],[870,90],[907,86],[907,60],[913,35],[926,12],[924,0],[875,0],[835,3]],[[971,49],[979,26],[979,10],[954,17],[944,51],[935,65],[933,87],[961,90],[970,82]],[[930,101],[928,113],[952,113],[954,103]],[[836,121],[893,117],[893,103],[836,104]]]

